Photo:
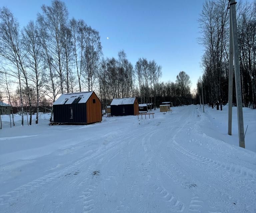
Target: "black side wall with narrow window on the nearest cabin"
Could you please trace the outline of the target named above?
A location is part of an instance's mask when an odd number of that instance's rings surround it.
[[[70,118],[70,108],[73,118]],[[53,105],[53,121],[58,123],[87,123],[86,103]]]

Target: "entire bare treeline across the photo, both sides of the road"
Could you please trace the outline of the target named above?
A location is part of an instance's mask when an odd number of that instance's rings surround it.
[[[94,90],[106,108],[113,98],[137,97],[140,103],[174,106],[228,101],[229,11],[228,1],[207,0],[200,14],[199,43],[204,47],[202,78],[190,90],[189,76],[181,71],[175,82],[160,82],[162,68],[144,57],[133,65],[124,50],[117,58],[104,58],[100,33],[82,19],[69,19],[64,2],[42,5],[36,20],[20,27],[8,8],[0,8],[0,101],[22,116],[52,110],[62,93]],[[240,70],[245,107],[255,108],[256,2],[237,4]],[[121,48],[120,48],[121,49]],[[234,85],[234,84],[233,84]],[[233,86],[235,91],[235,86]],[[235,103],[235,92],[234,103]]]

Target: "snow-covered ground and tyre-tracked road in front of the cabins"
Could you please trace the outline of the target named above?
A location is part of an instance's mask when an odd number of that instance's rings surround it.
[[[201,110],[5,128],[0,212],[256,212],[256,153]]]

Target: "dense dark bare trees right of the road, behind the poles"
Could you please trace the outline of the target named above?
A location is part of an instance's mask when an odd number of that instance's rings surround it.
[[[240,53],[240,71],[242,101],[244,107],[256,107],[256,1],[238,2],[238,44]],[[201,86],[207,103],[219,104],[228,102],[229,73],[229,10],[228,1],[207,0],[199,19],[204,55],[201,66],[202,78],[198,82],[197,95]],[[235,82],[233,81],[233,91]],[[235,92],[233,92],[234,103]]]

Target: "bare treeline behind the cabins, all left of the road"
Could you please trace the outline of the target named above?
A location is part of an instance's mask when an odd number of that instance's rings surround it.
[[[161,66],[139,58],[135,65],[121,50],[104,58],[100,33],[84,20],[68,19],[64,2],[42,5],[37,19],[20,28],[8,8],[0,9],[0,99],[22,116],[51,110],[62,93],[96,91],[105,108],[113,98],[134,97],[140,103],[188,104],[189,76],[180,72],[175,83],[160,83]],[[14,123],[14,121],[13,121]]]

